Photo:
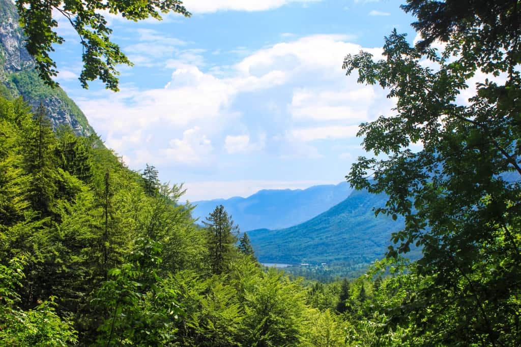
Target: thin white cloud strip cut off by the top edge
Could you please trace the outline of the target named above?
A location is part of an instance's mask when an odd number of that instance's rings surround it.
[[[184,0],[184,6],[193,13],[217,11],[265,11],[290,3],[313,3],[320,0]]]

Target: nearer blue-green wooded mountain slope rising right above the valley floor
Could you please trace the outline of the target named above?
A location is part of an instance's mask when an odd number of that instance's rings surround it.
[[[255,255],[263,263],[331,263],[367,266],[381,259],[391,244],[391,233],[404,220],[375,217],[373,208],[383,207],[385,194],[355,190],[328,211],[285,229],[257,229],[248,233]],[[417,256],[418,251],[410,255]]]

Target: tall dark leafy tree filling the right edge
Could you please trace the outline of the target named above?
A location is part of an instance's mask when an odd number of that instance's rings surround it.
[[[389,256],[423,247],[410,266],[414,294],[400,319],[443,344],[521,343],[521,79],[517,1],[410,0],[423,36],[416,47],[394,31],[384,59],[349,55],[358,82],[396,99],[391,115],[364,123],[357,188],[386,192],[378,213],[403,215]],[[443,52],[431,47],[436,40]],[[470,78],[474,78],[472,83]],[[472,88],[473,97],[458,99]],[[423,149],[413,152],[412,144]],[[408,313],[404,314],[404,307]],[[498,312],[501,312],[498,315]]]

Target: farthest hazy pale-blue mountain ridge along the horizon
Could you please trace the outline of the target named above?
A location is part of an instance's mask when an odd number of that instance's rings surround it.
[[[204,221],[208,213],[222,204],[241,230],[286,228],[307,221],[327,211],[349,196],[352,189],[342,182],[307,189],[260,190],[242,198],[195,201],[194,218]]]

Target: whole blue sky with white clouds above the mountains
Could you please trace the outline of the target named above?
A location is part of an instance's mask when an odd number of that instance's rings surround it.
[[[190,201],[345,180],[365,155],[358,125],[392,114],[378,86],[346,76],[346,55],[379,57],[393,28],[416,36],[393,0],[187,0],[191,18],[107,16],[134,62],[120,91],[78,81],[81,47],[63,19],[57,81],[133,170],[154,165]]]

